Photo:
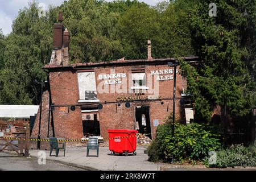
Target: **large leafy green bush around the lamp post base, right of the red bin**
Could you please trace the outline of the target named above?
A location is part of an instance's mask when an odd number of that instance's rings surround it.
[[[155,142],[147,148],[149,160],[166,162],[194,162],[204,159],[209,151],[220,147],[220,135],[212,127],[204,124],[175,124],[175,137],[172,137],[170,122],[159,125]]]

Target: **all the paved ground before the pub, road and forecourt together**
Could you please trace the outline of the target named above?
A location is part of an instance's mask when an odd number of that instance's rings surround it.
[[[13,170],[78,170],[76,168],[78,167],[90,171],[256,171],[256,167],[218,169],[206,168],[205,166],[152,163],[148,162],[148,156],[144,154],[144,150],[146,150],[146,146],[137,146],[137,155],[120,156],[110,155],[109,147],[100,147],[100,154],[97,158],[96,156],[86,157],[86,147],[68,147],[65,157],[62,150],[59,152],[58,157],[50,157],[49,151],[45,151],[47,165],[38,165],[38,153],[40,151],[30,150],[31,158],[11,158],[10,155],[7,155],[7,157],[1,157],[0,155],[0,168]],[[15,155],[15,152],[12,154]],[[90,150],[90,155],[96,155],[96,150]]]

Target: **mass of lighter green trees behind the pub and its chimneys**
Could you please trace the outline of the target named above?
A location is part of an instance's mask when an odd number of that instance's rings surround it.
[[[147,39],[152,41],[153,57],[194,54],[187,13],[194,4],[179,0],[150,7],[129,0],[70,0],[39,18],[33,1],[19,11],[13,32],[6,38],[0,34],[1,104],[39,104],[40,86],[33,80],[46,80],[42,67],[51,57],[52,27],[59,11],[71,35],[70,62],[85,63],[146,59]]]

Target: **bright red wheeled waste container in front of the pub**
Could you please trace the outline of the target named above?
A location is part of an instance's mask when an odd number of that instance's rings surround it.
[[[129,153],[136,155],[136,144],[137,144],[137,130],[108,130],[109,138],[109,150],[112,151],[112,155]],[[121,138],[119,138],[121,137]],[[127,138],[122,138],[127,137]]]

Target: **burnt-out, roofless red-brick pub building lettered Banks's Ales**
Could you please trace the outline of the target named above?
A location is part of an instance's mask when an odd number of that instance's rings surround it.
[[[174,63],[176,59],[148,57],[143,60],[69,63],[69,32],[54,25],[51,61],[43,67],[48,74],[42,99],[42,119],[34,123],[31,137],[81,139],[90,135],[108,137],[109,129],[137,129],[155,138],[156,128],[172,113]],[[183,57],[193,63],[198,57]],[[192,107],[184,94],[187,82],[176,70],[175,115],[189,122]],[[40,132],[39,132],[40,128]]]

